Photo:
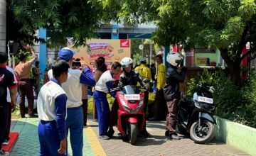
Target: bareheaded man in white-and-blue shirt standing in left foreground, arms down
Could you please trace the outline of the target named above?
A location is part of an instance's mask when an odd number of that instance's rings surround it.
[[[43,85],[38,94],[39,155],[65,155],[66,150],[66,102],[68,97],[61,84],[68,79],[69,65],[64,60],[55,62],[53,78]]]

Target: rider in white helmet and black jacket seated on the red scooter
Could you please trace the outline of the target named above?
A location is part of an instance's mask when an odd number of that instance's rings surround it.
[[[121,65],[122,65],[122,69],[124,71],[120,75],[119,82],[118,82],[118,86],[121,89],[126,85],[137,85],[137,83],[139,82],[139,84],[141,84],[141,86],[144,87],[144,89],[146,89],[146,91],[149,91],[150,87],[147,86],[145,82],[143,82],[142,76],[139,74],[139,72],[132,70],[133,69],[132,58],[124,57],[121,60]],[[111,110],[111,114],[110,114],[110,116],[112,116],[111,118],[114,118],[114,116],[117,116],[117,110],[113,110],[113,108],[118,109],[118,107],[112,106],[112,110]],[[114,121],[114,123],[116,123],[116,121]],[[110,129],[107,133],[108,133],[109,137],[112,137],[112,135],[114,134],[114,130],[111,125],[110,125]],[[149,137],[149,133],[147,133],[147,131],[146,131],[146,126],[144,127],[144,130],[142,130],[141,134],[145,138]]]

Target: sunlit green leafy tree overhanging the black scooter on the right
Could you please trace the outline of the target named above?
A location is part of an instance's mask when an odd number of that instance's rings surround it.
[[[249,54],[255,57],[256,51],[254,0],[105,0],[97,5],[104,9],[113,3],[119,4],[115,4],[119,6],[117,21],[124,21],[125,25],[156,23],[153,40],[159,45],[218,48],[231,81],[241,86],[240,63]],[[251,43],[250,51],[241,56],[247,42]]]

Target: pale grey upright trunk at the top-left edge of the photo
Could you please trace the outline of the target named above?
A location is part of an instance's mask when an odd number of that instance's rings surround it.
[[[6,52],[6,0],[0,0],[0,52]]]

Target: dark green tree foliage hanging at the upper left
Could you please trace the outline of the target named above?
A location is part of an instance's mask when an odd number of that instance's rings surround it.
[[[67,43],[72,36],[75,46],[86,45],[87,38],[97,37],[95,31],[110,18],[102,8],[92,6],[89,0],[8,0],[10,39],[33,43],[36,30],[46,28],[50,39],[48,48]],[[16,33],[12,33],[14,30]]]

